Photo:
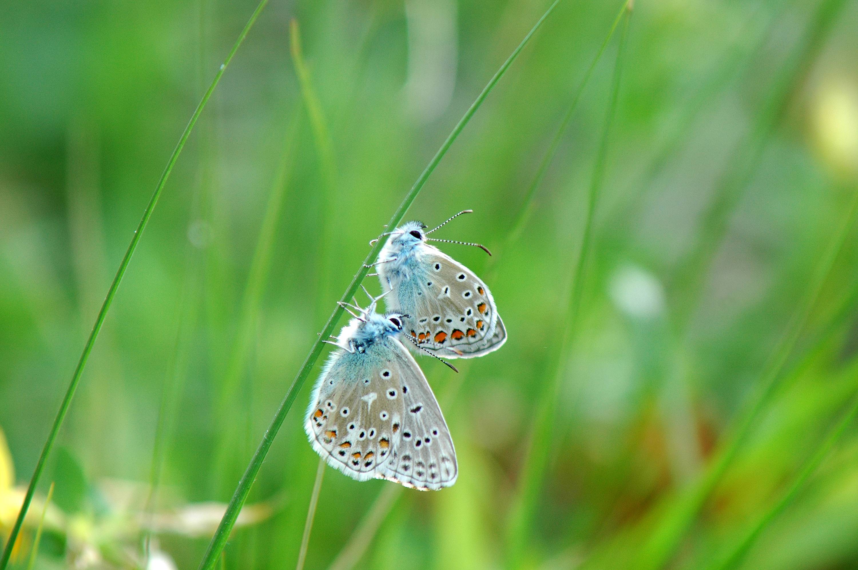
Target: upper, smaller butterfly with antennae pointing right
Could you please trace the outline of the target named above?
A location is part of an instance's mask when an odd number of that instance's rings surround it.
[[[456,216],[462,213],[471,210]],[[481,357],[506,342],[492,293],[468,267],[426,241],[474,245],[491,253],[479,243],[427,237],[444,224],[426,231],[426,225],[408,222],[388,233],[375,264],[378,279],[383,289],[393,291],[385,300],[388,308],[410,315],[403,317],[402,333],[421,349],[439,357]]]

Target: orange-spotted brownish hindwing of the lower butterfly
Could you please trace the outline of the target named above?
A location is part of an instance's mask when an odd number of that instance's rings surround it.
[[[358,481],[383,477],[378,470],[389,461],[401,433],[405,402],[396,387],[402,364],[392,354],[382,345],[365,353],[336,351],[307,410],[304,428],[313,449]],[[391,389],[396,389],[392,398]]]

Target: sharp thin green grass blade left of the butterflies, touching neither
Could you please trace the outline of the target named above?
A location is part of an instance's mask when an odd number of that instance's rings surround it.
[[[45,447],[42,448],[42,453],[39,455],[39,460],[36,463],[35,470],[33,471],[33,477],[30,479],[30,484],[27,487],[27,495],[24,496],[24,501],[21,504],[21,512],[18,513],[18,518],[15,519],[15,525],[12,527],[12,531],[9,533],[9,541],[6,544],[6,548],[3,549],[3,556],[0,557],[0,570],[4,570],[4,568],[9,564],[9,556],[12,554],[11,545],[15,543],[15,540],[18,537],[18,533],[21,531],[21,525],[24,522],[24,517],[27,515],[27,510],[30,507],[30,503],[33,501],[33,494],[36,491],[36,484],[39,483],[39,477],[41,477],[42,471],[45,469],[45,461],[47,460],[48,455],[51,453],[51,448],[53,447],[54,441],[57,439],[57,434],[59,433],[60,426],[63,425],[63,420],[65,419],[66,413],[68,413],[69,411],[71,400],[74,398],[75,392],[77,390],[77,385],[81,381],[83,369],[87,365],[89,353],[93,350],[93,346],[95,345],[95,339],[98,338],[101,326],[104,325],[104,321],[107,316],[107,311],[110,309],[110,306],[113,303],[113,297],[116,296],[116,291],[119,289],[119,284],[122,282],[122,278],[125,275],[125,271],[128,269],[128,266],[131,262],[131,256],[134,255],[134,251],[135,249],[137,249],[137,243],[140,242],[140,238],[143,235],[143,230],[146,229],[146,225],[148,225],[149,218],[152,217],[155,205],[157,205],[158,199],[160,198],[161,191],[166,185],[167,178],[170,177],[172,167],[176,164],[178,155],[182,153],[184,143],[188,140],[188,137],[190,136],[190,131],[194,129],[196,120],[202,114],[202,110],[205,108],[206,103],[208,103],[208,99],[211,98],[212,93],[215,92],[215,87],[217,87],[217,84],[221,81],[221,76],[223,75],[224,71],[226,71],[229,63],[233,61],[235,53],[239,51],[239,47],[245,41],[247,33],[251,31],[251,27],[253,27],[253,24],[257,21],[257,17],[259,17],[259,14],[263,11],[267,3],[268,0],[260,0],[260,2],[257,4],[257,8],[253,11],[250,20],[247,21],[244,29],[242,29],[241,33],[239,33],[239,38],[236,39],[235,44],[233,44],[233,48],[227,54],[227,58],[224,60],[223,63],[221,63],[221,67],[215,74],[215,78],[209,84],[206,92],[202,95],[202,99],[200,99],[199,104],[196,105],[194,113],[190,116],[190,121],[188,122],[187,126],[185,126],[182,135],[179,137],[176,147],[173,148],[172,154],[170,155],[170,159],[167,160],[166,168],[161,174],[160,180],[155,187],[152,197],[149,199],[146,209],[143,211],[143,216],[142,219],[140,219],[140,224],[137,225],[137,229],[134,231],[134,237],[131,237],[131,243],[129,243],[128,249],[125,251],[125,255],[122,258],[122,261],[119,263],[119,268],[116,272],[116,276],[113,278],[110,288],[107,290],[105,301],[101,305],[99,315],[95,319],[93,330],[91,333],[89,333],[87,344],[83,346],[81,358],[77,363],[74,375],[72,375],[71,377],[69,387],[66,390],[65,396],[63,397],[63,401],[59,406],[59,411],[57,411],[57,416],[54,418],[54,423],[51,426],[51,432],[48,434],[48,438],[45,441]]]

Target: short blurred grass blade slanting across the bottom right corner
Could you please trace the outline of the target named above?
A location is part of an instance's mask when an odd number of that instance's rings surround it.
[[[801,489],[804,489],[807,481],[810,477],[813,477],[813,473],[819,469],[819,465],[822,465],[822,462],[826,457],[828,457],[828,454],[831,453],[831,449],[833,449],[841,438],[843,438],[843,434],[846,433],[846,429],[855,421],[855,416],[858,416],[858,394],[856,394],[852,399],[849,404],[849,408],[843,413],[843,417],[841,417],[837,425],[835,425],[828,436],[821,441],[816,452],[807,459],[807,462],[804,467],[801,468],[798,477],[795,477],[795,481],[789,486],[786,493],[784,493],[780,500],[776,501],[776,503],[757,520],[757,522],[747,532],[746,536],[736,544],[730,554],[726,556],[723,561],[710,566],[710,570],[732,570],[733,568],[739,567],[742,561],[745,560],[748,551],[751,549],[753,544],[757,542],[758,537],[763,533],[763,531],[765,531],[765,529],[777,518],[778,515],[780,515],[793,501],[795,501],[796,495],[801,492]]]

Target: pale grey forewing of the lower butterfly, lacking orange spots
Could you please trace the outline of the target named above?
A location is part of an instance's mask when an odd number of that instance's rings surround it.
[[[385,479],[420,490],[438,490],[456,483],[458,465],[450,429],[426,376],[408,351],[398,346],[396,360],[401,382],[397,399],[404,404],[402,424],[393,428],[396,435],[393,451],[384,465],[378,467]]]

